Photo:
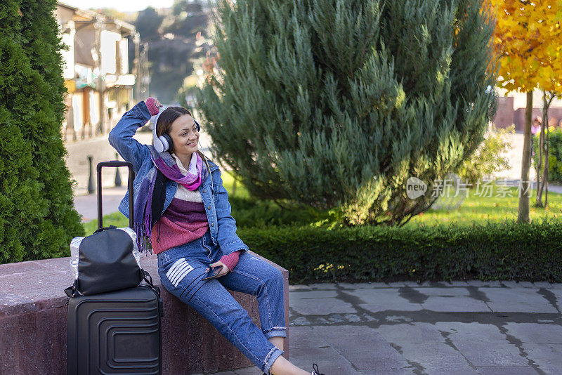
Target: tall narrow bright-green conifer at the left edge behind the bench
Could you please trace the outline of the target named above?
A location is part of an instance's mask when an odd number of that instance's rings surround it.
[[[0,263],[65,256],[84,234],[60,136],[65,105],[56,1],[0,11]]]

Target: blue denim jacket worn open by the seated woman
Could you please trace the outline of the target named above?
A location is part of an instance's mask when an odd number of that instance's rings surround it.
[[[131,110],[125,112],[115,128],[110,131],[109,141],[117,152],[126,162],[133,164],[135,180],[133,182],[133,198],[136,200],[138,187],[151,168],[156,168],[152,159],[148,145],[143,145],[133,138],[136,130],[146,124],[150,119],[150,111],[142,100]],[[199,151],[197,151],[199,152]],[[223,187],[221,170],[218,166],[207,161],[202,152],[199,152],[207,168],[207,177],[202,181],[199,191],[203,198],[209,230],[214,245],[218,244],[224,255],[233,253],[237,250],[248,250],[248,246],[236,234],[236,221],[230,216],[230,203],[228,202],[228,192]],[[166,182],[166,198],[162,214],[176,195],[178,183],[168,180]],[[119,204],[119,211],[129,218],[129,191]]]

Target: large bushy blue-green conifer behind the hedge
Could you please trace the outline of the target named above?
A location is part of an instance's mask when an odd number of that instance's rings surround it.
[[[214,157],[254,197],[401,225],[483,140],[492,25],[480,0],[221,0],[197,94]]]

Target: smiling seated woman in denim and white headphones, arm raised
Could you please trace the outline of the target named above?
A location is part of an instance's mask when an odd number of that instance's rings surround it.
[[[133,164],[134,229],[142,250],[152,248],[158,274],[171,294],[197,310],[266,374],[309,373],[282,357],[287,337],[282,273],[249,254],[236,235],[221,171],[197,150],[199,124],[183,107],[155,98],[127,111],[110,132],[110,144]],[[158,114],[153,145],[133,139]],[[129,216],[129,192],[119,211]],[[203,279],[209,268],[218,275]],[[226,288],[257,296],[261,329]]]

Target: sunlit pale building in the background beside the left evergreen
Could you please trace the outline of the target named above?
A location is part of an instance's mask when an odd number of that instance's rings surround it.
[[[148,94],[143,81],[145,58],[133,25],[58,2],[55,17],[67,50],[63,75],[67,86],[65,141],[108,133],[131,103]],[[129,44],[135,55],[129,57]],[[129,72],[129,58],[133,58]],[[138,87],[137,87],[138,86]]]

